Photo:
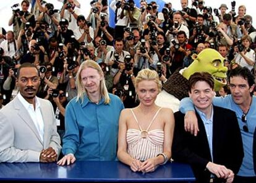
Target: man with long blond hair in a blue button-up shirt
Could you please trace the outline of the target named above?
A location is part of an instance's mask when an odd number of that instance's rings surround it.
[[[101,67],[82,62],[77,73],[77,97],[66,107],[62,153],[59,165],[78,161],[116,160],[121,100],[108,93]]]

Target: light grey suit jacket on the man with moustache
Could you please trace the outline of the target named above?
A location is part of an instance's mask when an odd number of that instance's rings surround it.
[[[38,98],[44,121],[43,142],[31,117],[17,96],[0,110],[0,162],[39,162],[40,152],[54,148],[59,156],[61,140],[53,106]]]

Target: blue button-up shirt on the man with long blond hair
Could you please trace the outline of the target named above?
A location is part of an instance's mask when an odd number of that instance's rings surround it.
[[[72,153],[80,161],[116,160],[119,115],[122,101],[109,94],[110,103],[104,99],[96,104],[85,95],[83,102],[70,100],[66,107],[62,153]]]

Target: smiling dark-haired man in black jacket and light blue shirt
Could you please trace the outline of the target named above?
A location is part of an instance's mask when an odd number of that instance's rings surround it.
[[[192,166],[197,182],[232,182],[244,157],[236,114],[213,106],[214,80],[206,72],[189,78],[189,96],[197,112],[197,136],[184,130],[184,114],[174,114],[173,159]]]

